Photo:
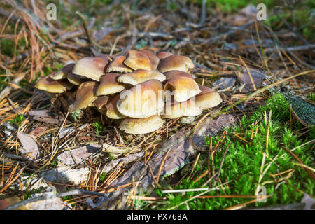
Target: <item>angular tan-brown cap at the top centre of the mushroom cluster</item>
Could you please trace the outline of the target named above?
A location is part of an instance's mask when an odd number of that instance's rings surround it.
[[[144,52],[137,50],[128,51],[128,57],[125,59],[124,64],[134,70],[154,70],[148,56]]]

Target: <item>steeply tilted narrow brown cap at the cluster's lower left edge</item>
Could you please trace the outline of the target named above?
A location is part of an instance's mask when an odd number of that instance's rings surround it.
[[[76,100],[69,106],[69,113],[91,106],[92,102],[97,99],[95,92],[98,85],[98,83],[92,81],[82,83],[76,91]]]

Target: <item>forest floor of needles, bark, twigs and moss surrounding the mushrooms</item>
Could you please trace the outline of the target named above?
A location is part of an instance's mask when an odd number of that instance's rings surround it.
[[[0,209],[314,204],[313,1],[268,3],[265,21],[248,1],[52,2],[56,20],[48,1],[0,3]],[[34,88],[68,61],[128,49],[190,57],[222,104],[134,136],[92,108],[64,119]]]

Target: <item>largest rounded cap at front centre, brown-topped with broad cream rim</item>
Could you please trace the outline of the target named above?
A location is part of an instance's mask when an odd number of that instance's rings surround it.
[[[163,111],[162,83],[148,80],[120,93],[117,109],[131,118],[148,118]]]

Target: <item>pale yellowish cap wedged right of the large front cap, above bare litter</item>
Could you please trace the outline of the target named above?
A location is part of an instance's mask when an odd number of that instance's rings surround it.
[[[163,112],[163,118],[174,119],[188,116],[198,116],[202,113],[202,109],[196,105],[195,99],[188,99],[184,102],[166,102],[165,110]]]

